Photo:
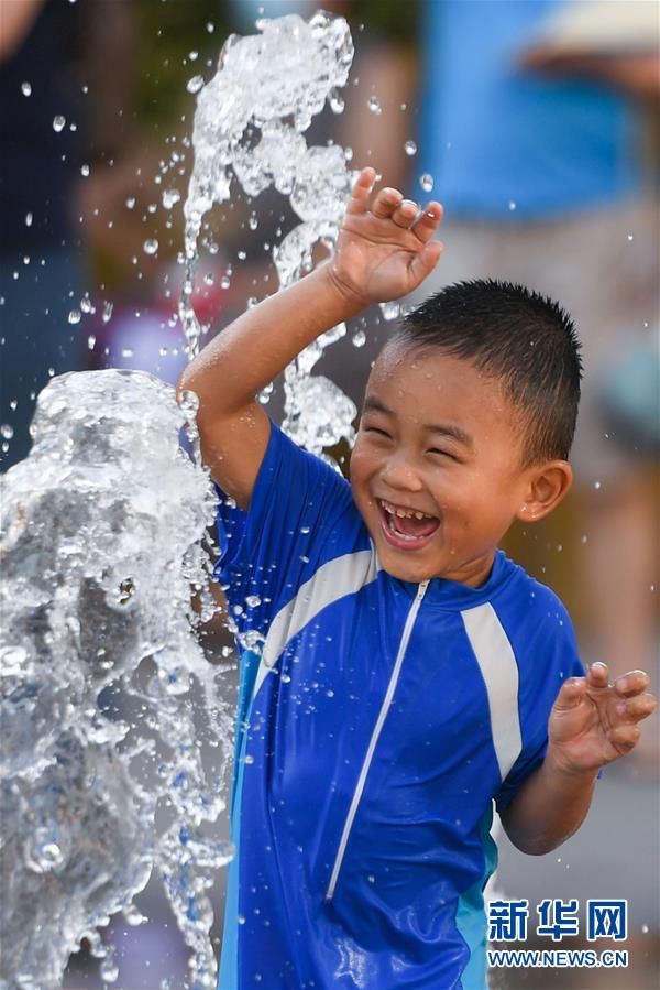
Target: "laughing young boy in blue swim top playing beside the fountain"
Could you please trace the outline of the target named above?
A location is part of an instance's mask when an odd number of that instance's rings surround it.
[[[441,207],[360,175],[333,258],[187,369],[224,493],[219,574],[241,650],[220,987],[483,990],[493,801],[548,852],[654,707],[586,676],[569,617],[497,544],[571,486],[574,329],[491,282],[407,317],[371,374],[351,485],[254,396],[317,336],[411,292]]]

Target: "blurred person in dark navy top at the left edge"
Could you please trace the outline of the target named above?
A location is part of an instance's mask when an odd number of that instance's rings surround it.
[[[3,469],[28,454],[35,393],[80,359],[68,324],[85,284],[75,221],[85,108],[72,73],[79,21],[66,0],[0,0]]]

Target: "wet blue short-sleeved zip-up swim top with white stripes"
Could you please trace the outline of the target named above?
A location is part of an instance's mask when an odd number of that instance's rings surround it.
[[[219,509],[241,652],[221,990],[484,990],[502,809],[582,674],[561,602],[381,569],[348,482],[275,425]]]

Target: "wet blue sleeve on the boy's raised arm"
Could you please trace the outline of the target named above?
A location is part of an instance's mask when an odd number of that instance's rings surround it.
[[[356,510],[348,481],[297,447],[274,423],[246,512],[218,490],[216,577],[239,630],[257,630],[326,559],[341,553]]]

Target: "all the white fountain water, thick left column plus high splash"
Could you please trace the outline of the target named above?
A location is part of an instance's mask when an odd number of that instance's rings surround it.
[[[180,305],[191,356],[201,222],[233,178],[250,196],[274,185],[300,217],[274,250],[282,285],[309,270],[318,241],[332,248],[352,181],[339,146],[304,138],[326,101],[341,112],[348,24],[319,13],[257,26],[228,41],[198,97]],[[316,453],[353,436],[354,405],[310,377],[344,333],[326,334],[286,374],[285,428]],[[205,825],[224,808],[231,719],[195,635],[215,609],[201,547],[216,498],[179,446],[195,396],[183,406],[143,372],[54,379],[38,399],[30,457],[3,478],[0,990],[56,990],[82,937],[106,982],[116,980],[97,928],[120,911],[140,922],[132,901],[154,870],[191,949],[189,986],[215,984],[207,891],[231,849]],[[109,686],[139,707],[136,719],[110,717]],[[200,721],[218,754],[211,769]]]

